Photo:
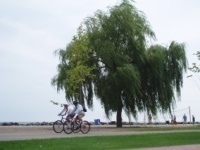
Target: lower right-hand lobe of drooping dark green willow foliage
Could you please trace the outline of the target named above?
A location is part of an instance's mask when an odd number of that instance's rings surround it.
[[[147,112],[154,115],[158,110],[171,112],[176,102],[175,97],[181,96],[186,69],[184,43],[173,41],[168,47],[154,45],[147,49],[146,63],[141,70],[141,100]]]

